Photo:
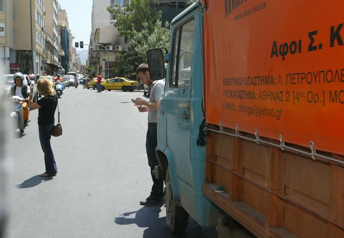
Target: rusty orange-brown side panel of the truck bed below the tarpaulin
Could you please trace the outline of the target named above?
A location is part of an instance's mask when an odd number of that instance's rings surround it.
[[[203,194],[258,237],[344,237],[343,181],[342,164],[207,137]],[[220,185],[224,193],[215,192]]]

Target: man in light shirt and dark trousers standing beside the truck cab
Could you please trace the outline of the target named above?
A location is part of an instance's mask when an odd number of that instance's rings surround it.
[[[136,75],[140,78],[143,84],[151,87],[149,101],[142,98],[136,98],[133,103],[139,109],[139,112],[148,112],[148,130],[146,135],[146,152],[148,158],[148,165],[150,167],[150,175],[153,180],[153,186],[151,192],[146,200],[141,201],[140,205],[149,206],[155,204],[161,204],[164,201],[164,180],[156,179],[153,175],[155,166],[159,165],[158,159],[155,154],[155,148],[158,144],[157,139],[157,111],[159,101],[162,98],[165,89],[165,80],[153,81],[150,79],[148,65],[146,63],[141,64],[136,69]]]

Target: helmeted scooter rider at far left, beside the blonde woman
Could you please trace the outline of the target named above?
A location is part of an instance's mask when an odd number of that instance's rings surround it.
[[[24,75],[21,72],[17,72],[13,75],[15,85],[9,88],[9,94],[11,96],[19,96],[24,99],[29,99],[30,88],[28,85],[23,84]],[[24,126],[28,126],[29,120],[29,104],[27,102],[22,103]]]

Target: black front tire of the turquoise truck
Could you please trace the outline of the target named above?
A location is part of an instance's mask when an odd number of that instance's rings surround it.
[[[176,206],[173,199],[170,167],[166,171],[166,224],[172,234],[182,234],[188,226],[189,214],[181,206]]]

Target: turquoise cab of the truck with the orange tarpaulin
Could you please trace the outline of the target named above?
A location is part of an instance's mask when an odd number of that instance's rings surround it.
[[[163,56],[160,49],[151,51],[159,54],[159,62],[164,61],[162,58],[169,62],[165,92],[159,103],[156,153],[161,169],[168,170],[167,177],[171,177],[166,178],[166,204],[172,233],[185,230],[188,214],[202,226],[214,226],[219,215],[201,192],[205,149],[197,145],[197,138],[204,117],[202,22],[202,8],[195,2],[172,21],[170,53]],[[161,72],[163,69],[164,64]],[[178,214],[183,214],[183,219],[178,220]]]

